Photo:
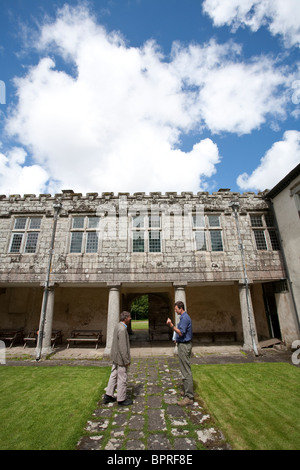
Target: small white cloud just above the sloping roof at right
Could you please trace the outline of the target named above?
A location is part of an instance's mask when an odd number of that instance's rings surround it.
[[[243,190],[272,189],[300,163],[300,132],[286,131],[283,140],[275,142],[249,176],[240,175],[237,184]]]

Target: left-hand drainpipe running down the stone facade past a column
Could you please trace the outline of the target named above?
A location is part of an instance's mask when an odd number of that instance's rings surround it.
[[[60,202],[56,202],[53,204],[54,209],[54,218],[53,218],[53,228],[52,228],[52,236],[51,236],[51,245],[49,250],[49,260],[48,260],[48,269],[44,287],[44,296],[43,296],[43,304],[42,304],[42,311],[41,311],[41,318],[40,318],[40,326],[39,326],[39,334],[38,334],[38,341],[37,341],[37,348],[36,348],[36,361],[41,359],[42,355],[42,345],[44,339],[44,328],[45,328],[45,321],[46,321],[46,310],[47,310],[47,302],[48,302],[48,293],[50,287],[50,275],[51,275],[51,268],[52,268],[52,257],[54,252],[54,241],[55,241],[55,233],[56,233],[56,226],[59,212],[62,208]]]

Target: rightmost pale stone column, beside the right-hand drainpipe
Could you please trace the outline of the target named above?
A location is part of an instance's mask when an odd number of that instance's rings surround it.
[[[256,325],[253,313],[252,299],[250,289],[246,284],[239,284],[239,295],[244,336],[244,351],[257,352],[258,339]]]

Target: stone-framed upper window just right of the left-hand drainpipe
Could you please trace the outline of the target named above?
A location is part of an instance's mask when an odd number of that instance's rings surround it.
[[[69,237],[68,253],[70,255],[81,255],[81,254],[95,255],[99,253],[101,217],[90,215],[90,214],[89,215],[84,214],[84,215],[72,215],[70,219],[71,220],[70,220],[70,237]],[[82,219],[83,223],[75,225],[74,224],[75,220],[78,222],[79,219]],[[95,219],[95,220],[98,219],[98,225],[90,226],[91,219]],[[75,239],[75,234],[81,235],[81,237],[79,237],[78,239],[78,242],[80,244],[80,250],[72,251],[72,244],[73,244],[73,240]],[[91,243],[91,246],[93,246],[93,242],[97,240],[96,250],[89,250],[88,248],[89,234],[96,234],[96,236],[94,236],[94,240]]]

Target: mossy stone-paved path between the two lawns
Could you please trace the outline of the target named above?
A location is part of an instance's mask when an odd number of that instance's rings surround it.
[[[195,401],[181,408],[178,359],[140,358],[130,366],[130,407],[101,400],[87,422],[79,450],[230,449],[212,418]],[[197,397],[196,397],[197,398]]]

